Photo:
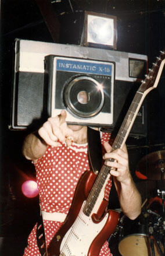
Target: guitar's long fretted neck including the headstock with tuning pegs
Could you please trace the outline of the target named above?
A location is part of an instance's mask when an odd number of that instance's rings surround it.
[[[137,117],[139,108],[141,107],[142,102],[145,99],[146,94],[148,94],[150,90],[157,87],[157,83],[159,82],[165,62],[164,58],[165,53],[163,51],[161,52],[160,57],[157,57],[156,62],[152,66],[152,69],[149,69],[148,75],[145,75],[145,80],[142,80],[141,86],[137,90],[137,93],[132,100],[130,108],[125,115],[124,121],[121,124],[116,139],[113,142],[112,151],[114,149],[123,147],[131,131],[132,125],[134,124],[135,118]],[[92,209],[94,209],[96,201],[98,200],[101,191],[103,190],[105,184],[107,183],[107,180],[109,179],[110,167],[106,166],[107,161],[114,162],[114,159],[106,159],[105,164],[99,172],[98,178],[96,179],[96,182],[89,194],[89,197],[83,209],[83,212],[87,216],[89,216],[92,212]]]

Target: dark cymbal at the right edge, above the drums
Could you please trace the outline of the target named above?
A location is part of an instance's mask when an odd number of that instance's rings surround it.
[[[149,153],[139,161],[137,170],[148,180],[162,180],[165,172],[165,150]]]

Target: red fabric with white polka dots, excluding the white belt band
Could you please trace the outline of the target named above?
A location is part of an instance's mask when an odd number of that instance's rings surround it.
[[[110,134],[105,132],[101,134],[102,143],[109,141],[109,139]],[[34,163],[42,211],[68,213],[78,180],[85,170],[89,170],[87,150],[87,143],[73,143],[69,148],[64,144],[59,147],[48,146],[45,155]],[[109,180],[105,188],[105,199],[107,201],[110,187],[111,180]],[[44,220],[47,246],[61,225],[61,222]],[[28,237],[28,246],[24,250],[24,256],[39,255],[35,225]],[[112,254],[110,254],[108,243],[106,242],[99,256],[110,255]]]

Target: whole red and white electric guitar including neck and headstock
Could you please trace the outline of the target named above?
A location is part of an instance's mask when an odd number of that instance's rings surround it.
[[[114,140],[112,151],[123,147],[146,94],[157,87],[164,58],[165,52],[161,51],[160,57],[142,80]],[[114,162],[114,159],[108,160]],[[48,256],[98,256],[103,244],[116,229],[119,213],[106,211],[107,202],[103,199],[110,178],[110,167],[106,166],[106,161],[98,176],[92,171],[85,171],[78,181],[70,211],[48,246]]]

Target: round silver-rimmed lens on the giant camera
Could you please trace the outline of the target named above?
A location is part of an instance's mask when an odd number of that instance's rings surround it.
[[[77,117],[89,118],[98,114],[104,103],[101,83],[89,76],[78,76],[64,90],[64,102]]]

